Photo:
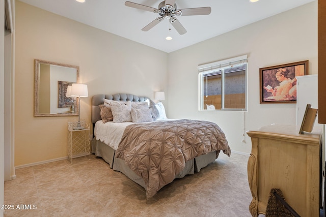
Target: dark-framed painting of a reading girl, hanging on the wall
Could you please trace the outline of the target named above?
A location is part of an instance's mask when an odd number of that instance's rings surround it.
[[[295,103],[296,76],[308,75],[309,60],[259,69],[260,104]]]

